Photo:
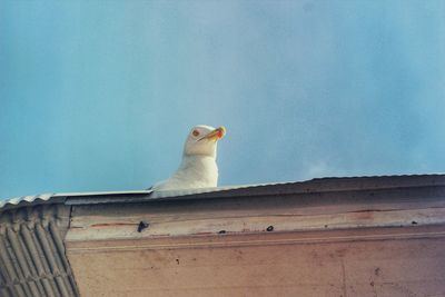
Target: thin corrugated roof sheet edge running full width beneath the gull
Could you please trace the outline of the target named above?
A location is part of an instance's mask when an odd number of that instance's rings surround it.
[[[131,191],[97,191],[97,192],[61,192],[24,196],[0,201],[0,211],[26,205],[40,204],[107,204],[135,202],[172,199],[224,198],[236,196],[267,196],[310,194],[345,190],[377,190],[405,187],[445,186],[445,175],[402,175],[402,176],[368,176],[368,177],[328,177],[306,181],[273,182],[257,185],[224,186],[217,188],[184,189],[184,190],[131,190]]]

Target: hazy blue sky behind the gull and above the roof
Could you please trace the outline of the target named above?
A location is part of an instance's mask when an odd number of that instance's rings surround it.
[[[444,172],[444,1],[0,2],[0,198]]]

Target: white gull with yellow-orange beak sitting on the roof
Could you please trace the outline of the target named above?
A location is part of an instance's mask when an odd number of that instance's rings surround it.
[[[198,125],[187,136],[182,161],[167,180],[152,186],[152,190],[179,190],[212,188],[218,185],[216,164],[217,143],[226,135],[226,128]]]

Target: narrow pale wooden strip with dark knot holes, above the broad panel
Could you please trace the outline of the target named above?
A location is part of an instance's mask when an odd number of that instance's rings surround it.
[[[445,208],[354,211],[329,215],[270,215],[270,216],[205,216],[192,215],[152,218],[140,217],[83,217],[72,222],[67,241],[128,239],[165,236],[192,236],[209,234],[245,234],[274,231],[323,230],[357,227],[397,227],[411,225],[445,224]],[[142,232],[139,222],[149,222]]]

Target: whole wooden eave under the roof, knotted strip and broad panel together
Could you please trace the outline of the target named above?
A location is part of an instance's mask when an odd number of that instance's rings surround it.
[[[445,192],[86,202],[66,245],[82,296],[445,296]]]

